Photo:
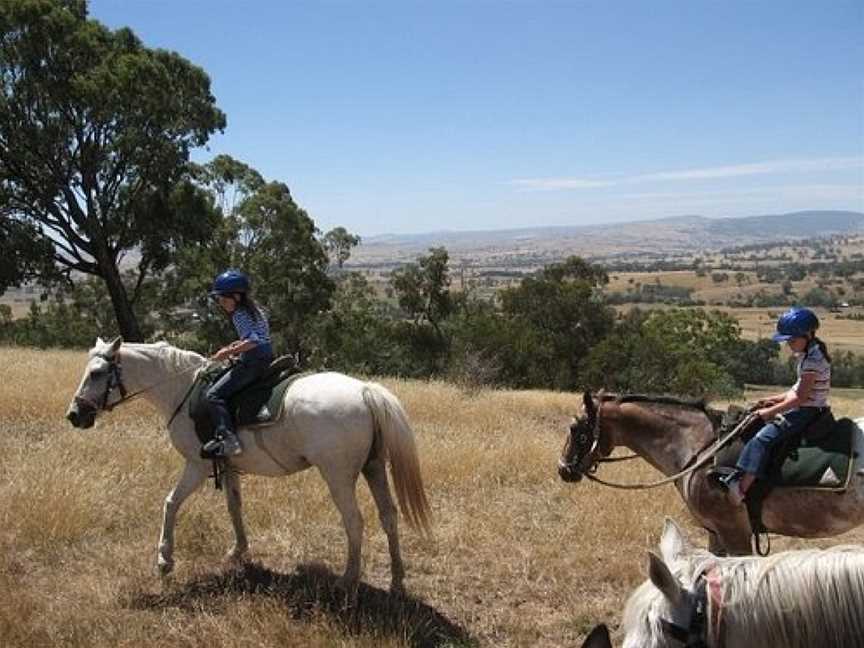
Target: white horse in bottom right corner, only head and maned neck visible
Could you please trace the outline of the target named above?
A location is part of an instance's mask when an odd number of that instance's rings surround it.
[[[624,648],[864,643],[864,547],[720,558],[667,519],[660,552],[627,603]]]

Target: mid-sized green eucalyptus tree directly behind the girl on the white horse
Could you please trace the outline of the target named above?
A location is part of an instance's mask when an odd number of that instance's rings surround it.
[[[270,312],[278,350],[306,356],[316,344],[312,324],[330,307],[334,290],[315,222],[287,185],[265,181],[230,156],[196,167],[194,175],[213,200],[218,224],[205,242],[175,255],[159,301],[196,306],[201,339],[189,342],[212,347],[229,331],[224,318],[213,317],[206,307],[206,287],[216,273],[239,268],[251,275],[254,295]],[[182,334],[188,328],[179,324],[172,332]]]

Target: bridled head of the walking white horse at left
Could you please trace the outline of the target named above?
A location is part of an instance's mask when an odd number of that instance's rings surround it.
[[[93,427],[96,415],[110,408],[111,392],[122,386],[117,359],[122,343],[123,338],[119,337],[111,342],[96,338],[96,344],[89,352],[81,384],[66,410],[66,418],[75,427]]]

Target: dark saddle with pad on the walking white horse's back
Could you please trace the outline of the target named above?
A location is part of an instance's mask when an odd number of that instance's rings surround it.
[[[229,369],[215,365],[201,372],[189,394],[189,416],[195,423],[195,434],[202,445],[215,434],[207,407],[207,390]],[[273,360],[257,380],[229,399],[228,410],[234,425],[266,426],[275,423],[282,415],[285,392],[301,375],[294,356],[280,356]]]

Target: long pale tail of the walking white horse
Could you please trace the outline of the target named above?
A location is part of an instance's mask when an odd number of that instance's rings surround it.
[[[420,460],[408,416],[396,397],[378,383],[366,383],[363,401],[372,412],[375,434],[383,442],[385,456],[390,459],[399,509],[413,529],[429,535],[429,501],[423,489]]]

